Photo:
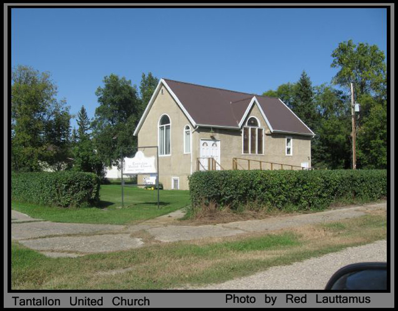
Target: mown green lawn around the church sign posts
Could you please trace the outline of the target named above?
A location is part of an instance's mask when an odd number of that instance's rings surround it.
[[[179,210],[190,204],[190,193],[184,190],[157,190],[124,187],[124,208],[121,207],[121,187],[101,185],[100,204],[91,208],[59,208],[29,203],[12,202],[13,210],[33,218],[63,223],[127,225],[152,219]]]

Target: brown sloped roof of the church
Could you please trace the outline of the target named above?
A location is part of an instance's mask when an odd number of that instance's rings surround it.
[[[239,128],[253,96],[263,110],[271,131],[313,135],[279,99],[163,79],[198,125]]]

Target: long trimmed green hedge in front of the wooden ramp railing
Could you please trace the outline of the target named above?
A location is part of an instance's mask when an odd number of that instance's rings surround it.
[[[317,210],[339,199],[387,197],[387,170],[199,171],[189,178],[193,207],[215,203]]]

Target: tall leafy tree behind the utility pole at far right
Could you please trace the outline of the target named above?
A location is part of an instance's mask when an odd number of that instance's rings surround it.
[[[341,42],[332,53],[332,68],[339,71],[332,81],[361,104],[357,114],[358,168],[386,167],[387,163],[387,78],[385,54],[376,45],[352,40]],[[350,103],[348,103],[350,105]]]

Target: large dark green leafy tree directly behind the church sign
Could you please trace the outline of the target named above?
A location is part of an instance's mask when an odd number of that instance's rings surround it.
[[[92,129],[96,150],[110,166],[118,163],[122,149],[127,155],[127,151],[131,153],[137,146],[133,133],[140,118],[141,100],[137,87],[124,77],[111,74],[103,83],[96,91],[100,105],[96,108]]]

